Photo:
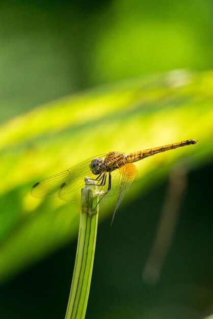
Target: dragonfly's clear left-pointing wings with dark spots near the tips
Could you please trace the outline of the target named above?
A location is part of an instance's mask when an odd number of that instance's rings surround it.
[[[85,176],[97,178],[90,170],[92,159],[104,157],[97,155],[59,174],[45,178],[33,185],[31,194],[36,198],[51,198],[59,196],[63,200],[71,200],[72,193],[85,185]]]

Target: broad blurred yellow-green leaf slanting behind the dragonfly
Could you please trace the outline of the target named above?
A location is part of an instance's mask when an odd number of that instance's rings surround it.
[[[47,103],[0,127],[0,280],[77,235],[79,202],[32,198],[34,182],[111,150],[125,153],[187,139],[195,146],[137,164],[127,196],[137,198],[172,167],[212,158],[213,72],[178,70]],[[125,200],[118,209],[121,218]],[[113,212],[113,203],[100,219]]]

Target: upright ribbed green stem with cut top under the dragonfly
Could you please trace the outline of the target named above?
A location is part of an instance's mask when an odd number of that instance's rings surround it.
[[[65,319],[84,319],[89,297],[98,224],[98,195],[94,181],[85,177],[72,285]]]

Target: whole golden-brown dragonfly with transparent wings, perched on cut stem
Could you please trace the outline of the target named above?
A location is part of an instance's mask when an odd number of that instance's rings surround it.
[[[133,163],[157,153],[193,145],[197,142],[186,140],[129,154],[111,151],[97,155],[66,171],[35,183],[31,194],[36,198],[59,197],[65,201],[72,201],[73,193],[85,186],[85,176],[87,176],[90,180],[95,181],[100,192],[99,203],[102,205],[107,203],[112,196],[117,195],[114,219],[116,210],[137,176],[137,168]]]

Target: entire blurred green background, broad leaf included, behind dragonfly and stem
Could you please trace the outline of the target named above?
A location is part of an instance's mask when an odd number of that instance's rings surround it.
[[[34,182],[188,138],[199,144],[138,166],[113,227],[113,204],[100,214],[86,318],[213,312],[212,11],[210,0],[1,2],[1,318],[66,311],[78,205],[32,199]],[[179,183],[168,248],[142,276]]]

